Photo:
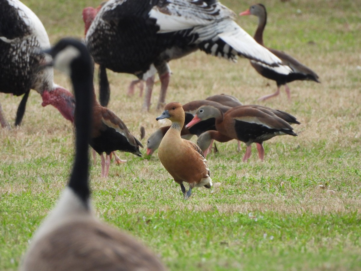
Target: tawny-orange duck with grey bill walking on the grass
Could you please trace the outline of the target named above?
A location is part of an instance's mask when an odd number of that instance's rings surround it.
[[[165,133],[158,148],[158,157],[165,169],[181,185],[184,198],[189,198],[194,187],[211,188],[207,160],[196,143],[181,138],[184,124],[184,110],[181,103],[169,103],[156,120],[170,119],[172,124]],[[186,192],[183,182],[188,182]]]

